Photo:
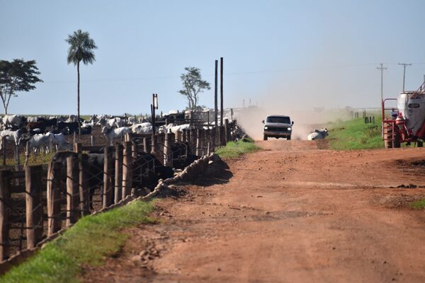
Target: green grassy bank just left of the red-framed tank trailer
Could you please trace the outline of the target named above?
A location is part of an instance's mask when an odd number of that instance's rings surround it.
[[[375,117],[375,124],[365,124],[364,119],[337,122],[329,127],[331,149],[381,149],[381,118]]]

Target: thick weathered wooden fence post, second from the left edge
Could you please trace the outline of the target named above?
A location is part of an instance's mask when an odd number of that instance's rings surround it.
[[[34,248],[42,238],[42,166],[27,166],[26,180],[26,228],[27,247]]]

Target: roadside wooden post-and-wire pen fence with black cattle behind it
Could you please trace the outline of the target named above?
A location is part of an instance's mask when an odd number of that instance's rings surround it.
[[[115,146],[84,145],[60,151],[47,166],[0,171],[0,271],[20,262],[85,215],[148,195],[181,173],[191,181],[205,156],[231,139],[226,127],[166,134],[128,133]],[[61,158],[58,158],[61,157]],[[103,163],[91,163],[97,156]],[[202,166],[191,167],[202,163]],[[2,267],[4,266],[4,267]]]

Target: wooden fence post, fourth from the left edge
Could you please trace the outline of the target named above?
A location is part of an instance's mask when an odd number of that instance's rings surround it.
[[[67,226],[74,224],[78,219],[79,207],[79,172],[78,161],[75,156],[67,158]]]

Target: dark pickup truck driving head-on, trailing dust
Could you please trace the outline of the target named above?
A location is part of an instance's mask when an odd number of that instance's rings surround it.
[[[290,139],[294,121],[290,121],[289,116],[270,115],[263,120],[263,139],[266,141],[268,137],[284,137]]]

